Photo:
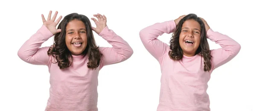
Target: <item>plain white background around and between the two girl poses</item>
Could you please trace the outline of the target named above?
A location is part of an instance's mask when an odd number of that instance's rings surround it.
[[[252,0],[253,1],[253,0]],[[156,111],[160,93],[160,66],[140,41],[139,31],[174,20],[183,14],[203,17],[209,26],[236,40],[239,54],[213,71],[207,93],[211,111],[256,111],[255,3],[250,0],[12,0],[0,3],[0,111],[44,111],[49,97],[47,66],[30,65],[18,49],[47,17],[77,12],[87,17],[105,14],[110,29],[123,37],[134,54],[125,62],[108,65],[99,74],[99,111]],[[4,3],[3,3],[4,2]],[[93,26],[95,24],[91,20]],[[99,46],[111,46],[94,33]],[[169,43],[171,34],[159,37]],[[42,46],[52,45],[53,37]],[[210,48],[220,48],[209,42]]]

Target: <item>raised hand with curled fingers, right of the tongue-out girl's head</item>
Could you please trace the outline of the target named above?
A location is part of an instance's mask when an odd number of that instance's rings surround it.
[[[101,14],[93,14],[93,16],[98,18],[98,20],[96,20],[95,18],[91,18],[96,24],[96,28],[92,27],[92,29],[97,34],[100,34],[100,32],[107,26],[107,18],[105,17],[105,15],[102,16]]]

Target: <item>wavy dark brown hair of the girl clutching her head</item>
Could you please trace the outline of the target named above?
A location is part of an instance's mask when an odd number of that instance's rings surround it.
[[[200,24],[201,27],[201,37],[200,37],[200,45],[195,52],[195,54],[199,54],[201,57],[204,57],[204,71],[210,71],[212,68],[211,63],[211,51],[209,48],[209,43],[207,41],[207,32],[204,26],[204,22],[196,15],[196,14],[188,14],[183,17],[180,22],[177,24],[175,31],[172,34],[172,38],[170,40],[170,49],[169,56],[172,60],[182,60],[183,58],[183,51],[180,48],[179,38],[180,32],[183,23],[186,20],[195,20]]]

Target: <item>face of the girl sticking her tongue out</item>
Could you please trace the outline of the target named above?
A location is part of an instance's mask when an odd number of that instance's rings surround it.
[[[80,55],[87,46],[87,31],[81,20],[72,20],[66,27],[66,46],[72,55]]]

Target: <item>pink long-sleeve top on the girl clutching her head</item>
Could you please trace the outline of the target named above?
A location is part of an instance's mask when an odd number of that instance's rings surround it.
[[[204,71],[204,58],[199,55],[180,61],[170,59],[169,45],[157,37],[175,31],[174,20],[155,23],[140,31],[140,39],[148,52],[158,60],[161,68],[160,99],[157,111],[210,111],[207,82],[212,71],[235,57],[241,46],[227,35],[209,29],[209,40],[221,48],[212,50],[212,70]]]

